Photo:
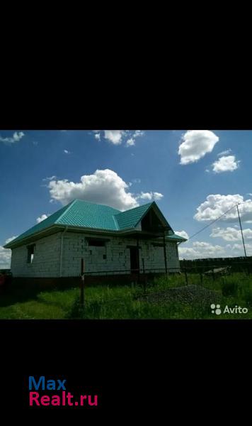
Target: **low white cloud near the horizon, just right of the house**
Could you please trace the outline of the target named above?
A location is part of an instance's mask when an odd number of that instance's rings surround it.
[[[222,246],[213,246],[205,241],[195,241],[193,247],[178,246],[180,258],[217,258],[225,256],[225,248]]]

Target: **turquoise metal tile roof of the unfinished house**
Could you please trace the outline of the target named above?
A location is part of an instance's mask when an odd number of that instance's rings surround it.
[[[25,231],[16,239],[6,244],[8,249],[13,244],[16,244],[23,239],[34,236],[40,231],[44,231],[51,226],[76,226],[80,228],[99,229],[103,231],[123,231],[125,229],[134,229],[135,226],[142,219],[144,214],[147,213],[151,204],[156,206],[156,203],[150,202],[134,209],[120,212],[120,210],[113,209],[102,204],[95,204],[83,200],[74,200],[62,207],[57,212],[51,214],[47,219],[32,228]],[[175,239],[175,234],[169,236]],[[182,239],[176,236],[176,239]]]

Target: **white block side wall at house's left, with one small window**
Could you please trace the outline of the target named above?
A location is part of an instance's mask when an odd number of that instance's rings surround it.
[[[13,277],[59,276],[59,233],[35,241],[33,263],[27,262],[27,245],[12,249],[11,272]]]

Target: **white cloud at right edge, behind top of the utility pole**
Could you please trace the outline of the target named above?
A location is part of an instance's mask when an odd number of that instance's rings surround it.
[[[239,212],[241,219],[244,222],[252,222],[252,200],[244,200],[242,195],[219,195],[211,194],[207,196],[207,200],[202,202],[199,207],[197,207],[197,213],[194,216],[194,219],[197,221],[212,221],[220,217],[224,212],[236,204],[242,203],[239,205]],[[238,214],[236,207],[227,212],[220,220],[228,222],[236,222],[238,220]]]

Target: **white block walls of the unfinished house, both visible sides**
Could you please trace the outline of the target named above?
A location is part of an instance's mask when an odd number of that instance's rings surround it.
[[[60,247],[62,233],[53,234],[36,241],[33,263],[27,263],[27,246],[12,250],[11,271],[14,277],[59,277]],[[136,246],[135,239],[108,236],[110,241],[105,247],[88,246],[85,236],[66,232],[63,236],[62,276],[74,277],[81,273],[81,258],[85,260],[86,272],[121,271],[130,273],[130,249],[127,246]],[[101,238],[101,236],[97,236]],[[151,240],[139,240],[139,261],[142,270],[142,258],[146,270],[165,270],[164,248],[153,246]],[[106,258],[103,258],[106,255]],[[166,244],[167,267],[179,270],[179,261],[176,243]],[[158,272],[158,271],[157,271]],[[119,272],[120,273],[120,272]]]

